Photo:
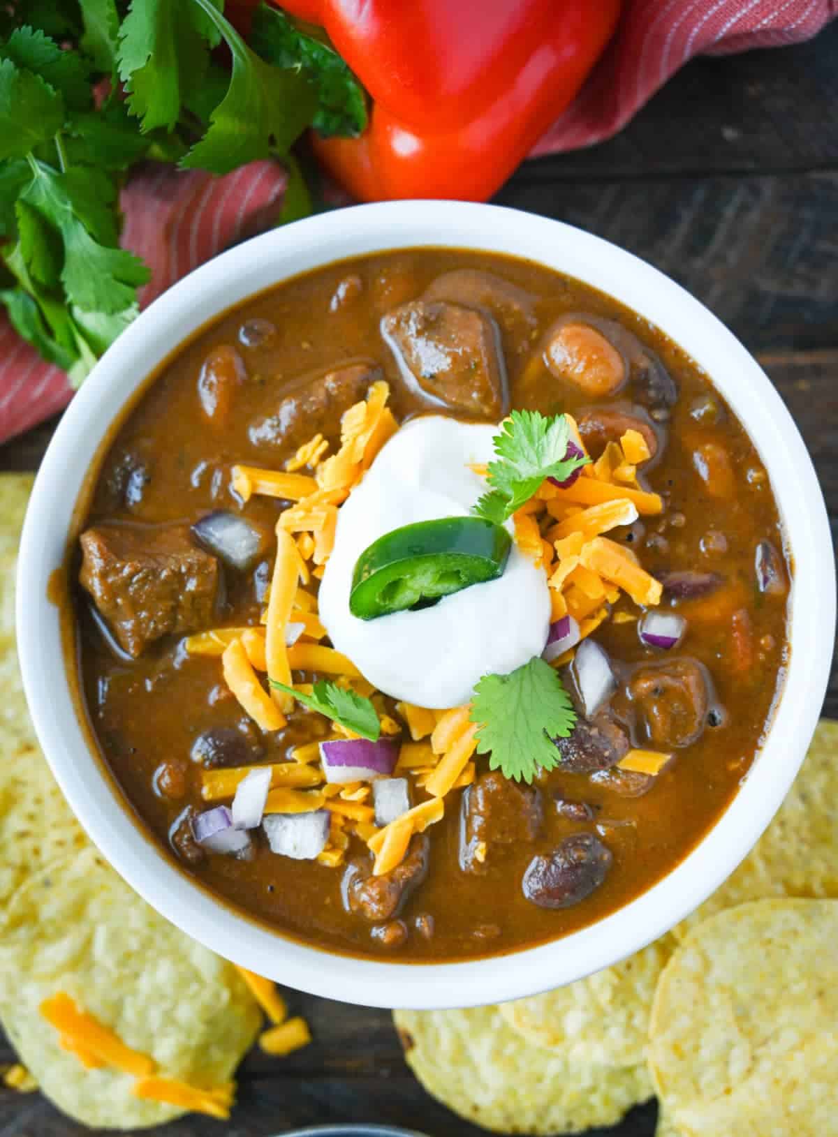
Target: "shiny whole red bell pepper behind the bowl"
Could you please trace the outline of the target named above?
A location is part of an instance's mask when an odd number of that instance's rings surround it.
[[[373,97],[358,139],[320,139],[355,197],[486,200],[573,100],[621,0],[284,0]]]

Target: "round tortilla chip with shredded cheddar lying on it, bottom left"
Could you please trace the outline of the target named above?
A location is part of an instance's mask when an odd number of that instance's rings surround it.
[[[167,923],[93,848],[42,869],[15,894],[0,937],[0,1020],[55,1104],[93,1128],[135,1129],[183,1110],[143,1101],[133,1079],[89,1070],[40,1014],[65,991],[161,1077],[229,1081],[262,1015],[231,963]]]

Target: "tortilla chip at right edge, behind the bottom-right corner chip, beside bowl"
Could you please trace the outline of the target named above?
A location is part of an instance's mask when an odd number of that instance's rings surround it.
[[[674,930],[714,912],[782,896],[838,897],[838,722],[821,719],[780,811],[739,868]]]

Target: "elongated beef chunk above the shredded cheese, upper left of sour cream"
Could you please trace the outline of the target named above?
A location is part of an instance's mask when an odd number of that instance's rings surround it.
[[[250,442],[255,447],[296,449],[318,431],[326,438],[338,438],[341,415],[364,398],[376,379],[381,379],[381,371],[374,363],[348,364],[325,375],[304,377],[275,414],[250,424]]]

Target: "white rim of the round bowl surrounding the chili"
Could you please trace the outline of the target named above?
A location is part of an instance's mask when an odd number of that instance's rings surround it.
[[[782,697],[750,774],[704,840],[653,888],[589,928],[512,955],[424,965],[306,946],[237,914],[179,872],[130,820],[88,747],[61,663],[58,612],[47,598],[102,439],[171,351],[277,281],[346,257],[415,246],[530,258],[601,289],[663,329],[745,424],[769,471],[795,563]],[[615,963],[691,912],[752,848],[797,773],[827,687],[833,625],[832,546],[818,480],[786,407],[741,343],[678,284],[613,244],[531,214],[459,202],[388,202],[313,217],[240,244],[175,284],[119,337],[64,415],[20,545],[17,634],[26,696],[43,752],[91,839],[149,904],[207,947],[301,990],[372,1006],[466,1006],[531,995]]]

